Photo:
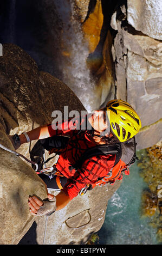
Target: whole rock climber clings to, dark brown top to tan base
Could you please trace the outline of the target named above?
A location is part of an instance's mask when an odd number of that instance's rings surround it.
[[[51,113],[55,109],[63,112],[63,106],[68,106],[69,111],[85,109],[66,84],[47,72],[40,72],[34,60],[16,45],[3,45],[0,82],[0,143],[12,150],[8,134],[21,134],[50,123]],[[34,144],[32,142],[30,148]],[[29,159],[28,143],[17,151]],[[46,244],[86,243],[89,236],[101,228],[108,199],[120,186],[119,181],[114,186],[96,187],[84,196],[74,198],[66,208],[48,217],[44,237],[45,219],[30,215],[28,197],[36,194],[42,199],[47,198],[46,185],[20,157],[0,149],[0,158],[1,244],[17,244],[35,220],[40,244],[43,240]]]

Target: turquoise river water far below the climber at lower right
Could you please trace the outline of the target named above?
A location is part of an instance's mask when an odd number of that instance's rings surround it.
[[[98,232],[101,245],[157,245],[157,229],[141,217],[141,193],[147,184],[139,176],[137,163],[124,175],[120,188],[108,202],[105,222]]]

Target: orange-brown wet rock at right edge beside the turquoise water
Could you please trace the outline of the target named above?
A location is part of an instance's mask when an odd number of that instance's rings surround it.
[[[161,141],[147,150],[138,151],[138,166],[140,175],[148,185],[148,191],[142,197],[142,212],[151,217],[150,224],[157,229],[158,240],[161,236],[161,191],[162,191],[162,161],[161,161]]]

